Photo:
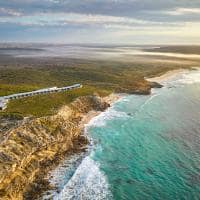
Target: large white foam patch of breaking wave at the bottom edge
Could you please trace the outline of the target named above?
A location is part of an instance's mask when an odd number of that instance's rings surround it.
[[[86,157],[54,200],[109,200],[112,195],[98,164]]]

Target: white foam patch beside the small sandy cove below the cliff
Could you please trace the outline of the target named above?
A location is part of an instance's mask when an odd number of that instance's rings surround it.
[[[127,118],[127,114],[125,112],[117,111],[114,107],[107,109],[105,112],[102,112],[100,115],[94,117],[90,122],[86,125],[87,127],[95,126],[101,127],[105,126],[106,122],[112,120],[113,118]]]

